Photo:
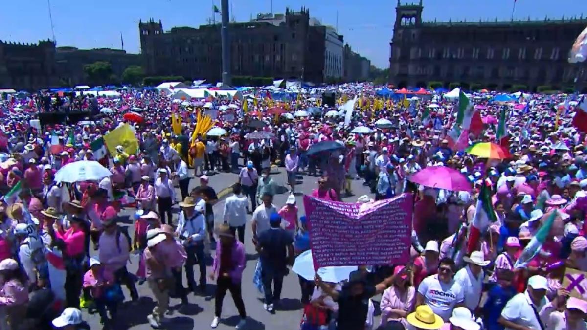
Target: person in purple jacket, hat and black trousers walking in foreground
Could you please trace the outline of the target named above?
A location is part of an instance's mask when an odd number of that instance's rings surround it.
[[[226,291],[230,291],[234,305],[237,307],[238,315],[241,321],[237,324],[237,329],[242,329],[247,320],[245,304],[242,301],[241,277],[245,269],[245,247],[240,241],[237,241],[231,228],[227,224],[221,224],[217,229],[219,241],[216,243],[216,255],[214,264],[212,264],[212,274],[210,280],[216,278],[216,301],[214,319],[212,319],[212,328],[218,326],[218,321],[222,313],[222,301]]]

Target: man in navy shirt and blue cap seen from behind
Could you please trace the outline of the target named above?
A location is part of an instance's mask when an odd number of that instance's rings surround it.
[[[263,307],[272,313],[274,305],[279,304],[287,265],[294,261],[294,240],[291,234],[281,228],[279,214],[271,214],[269,224],[271,228],[259,235],[257,251],[261,260],[261,278],[265,290]],[[274,291],[271,289],[272,282]]]

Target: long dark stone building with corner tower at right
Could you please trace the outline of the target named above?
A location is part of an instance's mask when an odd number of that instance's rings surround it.
[[[587,89],[586,63],[568,53],[587,18],[522,21],[424,21],[424,5],[397,1],[389,78],[397,87]]]

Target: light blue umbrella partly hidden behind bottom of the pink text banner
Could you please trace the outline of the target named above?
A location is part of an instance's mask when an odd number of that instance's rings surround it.
[[[308,281],[312,281],[316,272],[318,272],[318,275],[320,275],[322,281],[338,283],[348,280],[350,273],[356,271],[357,268],[357,266],[322,267],[316,271],[312,258],[312,250],[308,250],[295,258],[292,271]]]

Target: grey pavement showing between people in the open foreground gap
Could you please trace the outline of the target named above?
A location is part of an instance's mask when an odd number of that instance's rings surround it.
[[[285,182],[286,176],[283,169],[279,169],[280,173],[274,174],[274,178],[277,180],[280,186]],[[210,186],[214,187],[217,192],[222,188],[230,186],[230,184],[236,181],[236,174],[221,173],[210,177]],[[303,182],[296,188],[297,191],[303,191],[303,193],[309,193],[313,188],[317,187],[317,177],[303,176]],[[354,196],[343,198],[345,201],[356,201],[356,198],[368,193],[368,188],[362,185],[362,180],[353,181],[353,193]],[[194,187],[197,180],[191,180],[190,188]],[[285,190],[285,188],[284,188]],[[177,191],[178,196],[179,191]],[[230,195],[230,194],[229,194]],[[278,194],[274,198],[274,204],[276,207],[285,205],[287,198],[287,192]],[[178,197],[179,200],[179,197]],[[304,214],[302,194],[296,196],[299,207],[299,215]],[[224,207],[224,200],[221,200],[214,206],[214,214],[216,220],[221,221],[222,208]],[[123,214],[131,214],[134,210],[127,210]],[[176,218],[174,218],[176,221]],[[257,254],[255,248],[251,243],[251,228],[247,224],[247,232],[245,234],[245,247],[247,251],[247,268],[245,268],[242,276],[242,297],[247,308],[248,329],[284,329],[294,330],[299,329],[299,321],[301,319],[302,311],[301,304],[299,302],[300,290],[298,277],[293,272],[284,279],[284,289],[282,292],[281,307],[279,307],[275,315],[271,315],[263,309],[262,301],[260,300],[261,295],[258,294],[252,284],[252,278],[255,270],[255,264],[257,262]],[[131,258],[131,264],[129,265],[129,271],[135,272],[137,269],[138,262],[135,258]],[[210,266],[210,265],[209,265]],[[198,277],[197,267],[195,267],[195,277]],[[185,281],[185,276],[184,276]],[[151,291],[147,284],[137,285],[140,294],[140,303],[132,305],[128,301],[124,302],[119,312],[119,322],[117,329],[149,329],[150,326],[147,323],[147,314],[151,311],[154,306]],[[126,291],[126,287],[123,290],[129,298],[129,294]],[[169,315],[169,321],[166,324],[167,329],[208,329],[210,328],[210,322],[214,317],[214,291],[215,282],[208,283],[207,297],[203,295],[190,294],[188,300],[190,304],[187,307],[176,309],[180,300],[171,299],[170,306],[174,310],[173,315]],[[99,316],[87,315],[84,310],[85,318],[92,325],[92,329],[99,329]],[[222,308],[221,324],[218,325],[217,329],[233,329],[239,321],[237,309],[232,302],[230,293],[224,299],[224,305]]]

